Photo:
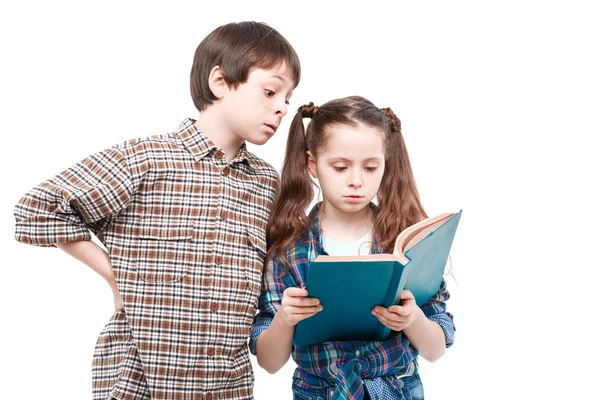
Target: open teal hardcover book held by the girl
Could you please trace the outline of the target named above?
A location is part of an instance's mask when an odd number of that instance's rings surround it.
[[[305,287],[323,310],[298,323],[294,345],[387,339],[391,330],[371,310],[400,304],[404,289],[418,306],[439,291],[461,215],[443,213],[404,229],[392,254],[318,256]]]

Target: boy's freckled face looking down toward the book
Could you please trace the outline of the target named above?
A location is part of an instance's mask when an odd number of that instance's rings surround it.
[[[265,144],[287,114],[294,81],[282,63],[271,69],[252,69],[248,80],[223,97],[223,110],[231,132],[252,144]]]

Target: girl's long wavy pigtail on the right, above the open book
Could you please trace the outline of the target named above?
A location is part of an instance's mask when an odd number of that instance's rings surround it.
[[[417,190],[400,119],[390,108],[381,111],[388,120],[387,149],[385,173],[377,194],[374,229],[381,235],[381,247],[391,253],[400,232],[427,218],[427,214]]]

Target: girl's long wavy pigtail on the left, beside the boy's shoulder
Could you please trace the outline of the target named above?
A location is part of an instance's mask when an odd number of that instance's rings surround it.
[[[298,108],[290,126],[281,185],[267,224],[265,272],[273,256],[289,270],[288,250],[309,226],[306,209],[314,197],[314,183],[306,165],[308,148],[302,118],[312,118],[317,110],[313,103]]]

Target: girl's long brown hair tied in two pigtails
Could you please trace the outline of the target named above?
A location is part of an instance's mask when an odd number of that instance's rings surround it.
[[[311,118],[304,131],[303,118]],[[385,171],[377,193],[373,231],[379,245],[391,253],[400,232],[427,214],[419,199],[400,120],[389,108],[379,109],[369,100],[350,96],[332,100],[320,107],[313,103],[298,108],[288,135],[281,170],[281,186],[267,225],[265,267],[277,257],[289,270],[287,253],[310,228],[306,210],[314,198],[315,185],[308,172],[310,151],[315,157],[327,145],[328,127],[366,125],[381,131],[385,151]]]

